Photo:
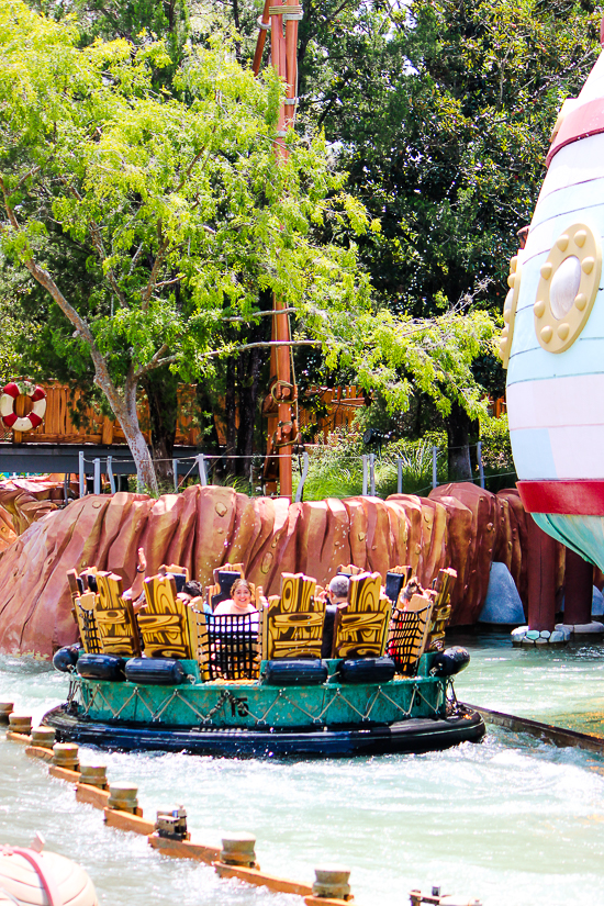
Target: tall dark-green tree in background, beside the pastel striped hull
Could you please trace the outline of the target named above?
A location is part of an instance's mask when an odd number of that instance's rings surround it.
[[[305,4],[302,115],[380,220],[359,253],[392,312],[499,316],[558,109],[600,51],[599,19],[590,0]],[[474,371],[501,391],[492,353]],[[461,477],[472,414],[454,401],[446,420]]]

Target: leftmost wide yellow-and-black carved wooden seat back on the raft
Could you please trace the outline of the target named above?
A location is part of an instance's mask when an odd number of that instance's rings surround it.
[[[99,594],[94,616],[103,655],[121,655],[136,658],[141,655],[141,641],[132,601],[122,597],[122,580],[112,572],[98,572]]]

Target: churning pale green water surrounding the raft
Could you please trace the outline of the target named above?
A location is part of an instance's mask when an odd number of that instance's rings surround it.
[[[456,639],[458,641],[458,639]],[[472,662],[458,696],[499,711],[602,732],[604,649],[513,649],[507,636],[463,639]],[[40,720],[63,701],[64,675],[0,659],[0,701]],[[604,732],[602,734],[604,735]],[[478,897],[484,906],[601,906],[604,759],[493,729],[482,745],[445,752],[334,761],[226,760],[82,752],[132,780],[139,804],[183,804],[193,840],[249,830],[275,874],[311,882],[322,862],[351,869],[359,906],[409,903],[413,887]],[[46,846],[80,862],[103,906],[280,906],[299,897],[220,881],[170,860],[145,838],[104,827],[69,784],[0,734],[0,843]]]

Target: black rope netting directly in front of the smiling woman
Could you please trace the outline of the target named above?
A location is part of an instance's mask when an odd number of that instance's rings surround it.
[[[259,672],[259,614],[208,616],[206,650],[200,652],[211,680],[255,680]]]

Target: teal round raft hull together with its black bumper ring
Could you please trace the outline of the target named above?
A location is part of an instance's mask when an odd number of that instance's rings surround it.
[[[429,658],[430,656],[427,656]],[[212,756],[351,756],[425,752],[484,735],[481,716],[448,694],[450,679],[275,686],[201,682],[175,686],[74,676],[68,703],[45,723],[60,741]]]

